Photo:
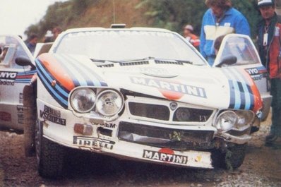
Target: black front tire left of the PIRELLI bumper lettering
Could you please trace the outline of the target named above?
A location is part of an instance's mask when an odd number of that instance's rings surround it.
[[[64,167],[64,147],[44,138],[40,123],[36,126],[35,141],[38,173],[44,178],[59,178]]]

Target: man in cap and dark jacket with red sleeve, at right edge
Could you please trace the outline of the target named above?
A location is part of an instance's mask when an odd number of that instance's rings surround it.
[[[258,52],[268,69],[273,96],[272,125],[265,143],[274,143],[281,136],[281,24],[277,22],[274,0],[258,0],[263,20],[258,23]]]

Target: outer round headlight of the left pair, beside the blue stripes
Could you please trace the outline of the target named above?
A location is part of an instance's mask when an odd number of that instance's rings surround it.
[[[79,113],[91,111],[95,106],[96,95],[90,88],[80,88],[71,95],[71,107]]]

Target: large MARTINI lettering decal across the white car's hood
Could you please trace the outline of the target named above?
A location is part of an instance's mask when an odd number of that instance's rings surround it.
[[[182,95],[192,95],[195,97],[207,98],[204,88],[200,88],[193,85],[184,85],[181,83],[171,83],[160,79],[138,78],[138,77],[131,77],[131,82],[136,85],[145,85],[172,93],[179,93]]]

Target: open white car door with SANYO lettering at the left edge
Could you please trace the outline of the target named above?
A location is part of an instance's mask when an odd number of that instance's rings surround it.
[[[20,37],[0,36],[0,47],[0,126],[23,130],[23,88],[35,69],[18,66],[16,58],[34,59]]]

